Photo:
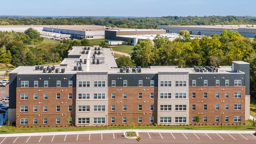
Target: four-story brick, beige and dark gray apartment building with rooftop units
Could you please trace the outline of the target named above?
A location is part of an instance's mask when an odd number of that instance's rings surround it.
[[[19,66],[9,75],[17,126],[239,124],[250,116],[250,64],[126,66],[110,48],[75,46],[60,66]]]

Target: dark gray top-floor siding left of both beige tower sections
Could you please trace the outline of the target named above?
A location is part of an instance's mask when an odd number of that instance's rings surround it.
[[[34,81],[38,81],[38,87],[44,87],[44,81],[48,81],[48,87],[57,87],[57,81],[61,81],[61,87],[69,87],[69,81],[73,81],[73,87],[76,87],[76,74],[18,74],[17,87],[20,87],[20,81],[28,81],[28,87],[34,87]]]

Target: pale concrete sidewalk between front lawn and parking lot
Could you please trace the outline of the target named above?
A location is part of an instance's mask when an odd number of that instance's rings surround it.
[[[0,137],[22,137],[22,136],[46,136],[46,135],[77,135],[77,134],[96,134],[96,133],[124,133],[131,129],[120,130],[100,130],[100,131],[63,131],[48,133],[11,133],[0,134]],[[138,133],[255,133],[255,131],[217,131],[217,130],[174,130],[174,129],[134,129]]]

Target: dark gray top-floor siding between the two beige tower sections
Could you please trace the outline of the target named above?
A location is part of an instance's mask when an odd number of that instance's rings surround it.
[[[112,80],[116,87],[123,87],[123,80],[127,80],[128,87],[138,87],[139,80],[143,80],[143,87],[150,87],[150,80],[154,80],[154,87],[158,87],[158,74],[108,74],[109,87]]]

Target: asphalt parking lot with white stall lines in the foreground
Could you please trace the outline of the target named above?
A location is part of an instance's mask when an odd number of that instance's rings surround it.
[[[252,131],[253,132],[253,131]],[[24,136],[24,137],[0,137],[0,144],[69,144],[69,143],[112,143],[131,144],[137,143],[135,139],[125,138],[124,133],[94,133],[76,135],[46,135],[46,136]],[[252,133],[139,133],[139,143],[147,144],[255,144],[256,136]]]

